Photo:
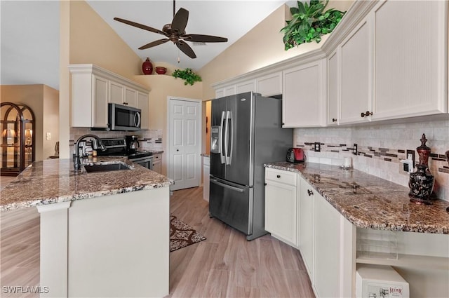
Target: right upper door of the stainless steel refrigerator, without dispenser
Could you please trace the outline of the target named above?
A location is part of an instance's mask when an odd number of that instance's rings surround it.
[[[225,180],[253,186],[254,96],[241,93],[227,99]]]

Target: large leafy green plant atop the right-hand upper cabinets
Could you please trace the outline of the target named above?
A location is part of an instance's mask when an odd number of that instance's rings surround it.
[[[310,3],[297,1],[297,7],[291,7],[292,19],[281,29],[285,50],[302,43],[321,41],[321,36],[333,32],[342,20],[344,13],[330,8],[324,11],[329,0],[310,0]]]

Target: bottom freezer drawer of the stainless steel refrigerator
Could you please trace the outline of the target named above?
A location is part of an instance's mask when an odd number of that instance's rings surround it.
[[[234,229],[253,233],[253,189],[210,176],[209,212]]]

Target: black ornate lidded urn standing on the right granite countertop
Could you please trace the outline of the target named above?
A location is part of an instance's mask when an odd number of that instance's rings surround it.
[[[434,189],[434,176],[429,171],[429,154],[431,149],[426,146],[426,135],[421,137],[421,146],[416,151],[420,157],[420,163],[416,165],[417,171],[410,173],[408,187],[410,187],[409,195],[412,197],[410,201],[413,203],[431,204],[431,194]]]

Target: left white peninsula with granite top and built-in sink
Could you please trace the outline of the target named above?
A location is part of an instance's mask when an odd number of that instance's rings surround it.
[[[1,190],[1,212],[41,214],[41,297],[168,294],[169,186],[126,158],[130,170],[79,172],[72,160],[37,161]]]

